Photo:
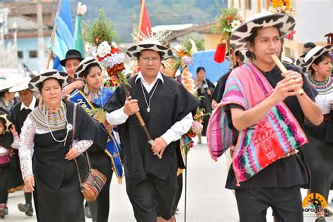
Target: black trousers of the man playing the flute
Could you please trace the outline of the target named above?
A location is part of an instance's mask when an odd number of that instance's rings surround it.
[[[303,221],[300,186],[235,191],[240,222],[266,222],[268,207],[272,207],[277,222]]]

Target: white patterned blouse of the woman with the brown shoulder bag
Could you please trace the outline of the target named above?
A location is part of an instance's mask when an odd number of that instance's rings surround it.
[[[45,131],[45,129],[39,128],[37,124],[35,124],[32,121],[32,119],[30,119],[30,115],[28,115],[21,129],[19,149],[18,149],[23,179],[26,176],[34,175],[32,173],[32,155],[34,154],[34,135],[44,134],[44,133],[49,133],[49,131]],[[73,148],[77,149],[81,154],[82,152],[88,150],[88,148],[90,148],[91,145],[93,145],[93,141],[91,140],[74,141]]]

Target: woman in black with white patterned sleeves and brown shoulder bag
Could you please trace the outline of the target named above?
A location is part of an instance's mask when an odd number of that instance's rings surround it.
[[[67,73],[57,70],[46,70],[29,83],[31,91],[39,91],[43,103],[30,112],[22,126],[19,154],[25,184],[38,194],[38,221],[84,221],[84,197],[72,159],[77,159],[84,178],[87,166],[81,153],[100,132],[77,106],[72,144],[74,103],[61,99],[68,83]]]

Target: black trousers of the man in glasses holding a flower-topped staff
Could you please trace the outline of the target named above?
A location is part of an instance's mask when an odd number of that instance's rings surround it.
[[[133,178],[126,177],[126,192],[129,195],[136,221],[156,222],[158,216],[169,220],[174,215],[176,211],[176,178],[176,166],[172,167],[166,181],[149,173],[147,179],[138,184]]]

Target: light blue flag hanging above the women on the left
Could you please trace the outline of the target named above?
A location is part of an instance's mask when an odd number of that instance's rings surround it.
[[[59,0],[58,0],[59,5]],[[52,46],[56,58],[53,63],[53,69],[63,70],[60,60],[65,59],[66,52],[74,48],[72,13],[70,11],[70,1],[63,0],[60,12],[55,15],[54,26],[57,26],[54,42]]]

